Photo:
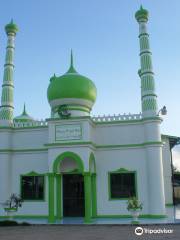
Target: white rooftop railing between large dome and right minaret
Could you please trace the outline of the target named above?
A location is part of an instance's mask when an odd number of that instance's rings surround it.
[[[119,114],[119,115],[103,115],[103,116],[93,116],[92,120],[94,122],[112,122],[112,121],[130,121],[130,120],[140,120],[142,119],[142,114]]]

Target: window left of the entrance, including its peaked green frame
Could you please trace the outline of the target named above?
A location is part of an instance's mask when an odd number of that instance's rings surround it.
[[[23,189],[23,179],[27,181],[26,191]],[[38,179],[39,178],[39,179]],[[41,180],[40,180],[41,178]],[[28,183],[29,181],[29,183]],[[30,195],[28,197],[28,184],[32,184],[29,186]],[[38,186],[39,184],[39,186]],[[42,184],[42,186],[40,186]],[[45,174],[38,174],[36,172],[30,172],[27,174],[22,174],[20,176],[20,195],[23,201],[25,202],[41,202],[45,201]],[[34,195],[34,196],[33,196]]]

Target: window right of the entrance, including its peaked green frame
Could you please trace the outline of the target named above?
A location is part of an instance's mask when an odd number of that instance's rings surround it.
[[[125,188],[125,186],[127,187],[127,175],[126,174],[131,174],[131,178],[134,178],[134,194],[131,194],[129,197],[127,196],[127,194],[123,194],[122,196],[115,196],[115,194],[113,193],[113,188],[115,189],[115,186],[112,187],[112,182],[115,181],[115,176],[119,175],[119,181],[122,181],[122,183],[120,184],[119,188],[122,189],[123,192],[123,188]],[[113,179],[114,176],[114,179]],[[125,183],[124,183],[125,182]],[[123,185],[124,183],[124,185]],[[126,184],[126,185],[125,185]],[[117,187],[117,186],[116,186]],[[133,190],[131,190],[132,192]],[[108,172],[108,192],[109,192],[109,200],[126,200],[129,199],[131,197],[138,197],[137,194],[137,172],[136,171],[128,171],[127,169],[124,168],[120,168],[116,171],[113,172]],[[113,196],[114,195],[114,196]],[[126,195],[126,196],[125,196]]]

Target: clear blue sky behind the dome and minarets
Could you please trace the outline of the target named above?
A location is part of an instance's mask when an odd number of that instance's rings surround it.
[[[138,24],[140,5],[149,11],[148,32],[159,109],[166,105],[162,133],[180,136],[179,0],[1,0],[0,85],[6,48],[4,26],[13,18],[16,36],[14,115],[50,116],[47,87],[69,67],[97,87],[92,114],[141,111]],[[180,148],[179,148],[180,149]],[[178,148],[177,148],[178,152]]]

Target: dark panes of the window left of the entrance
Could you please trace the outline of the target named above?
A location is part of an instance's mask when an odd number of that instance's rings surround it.
[[[21,197],[23,200],[44,200],[44,176],[22,176]]]

